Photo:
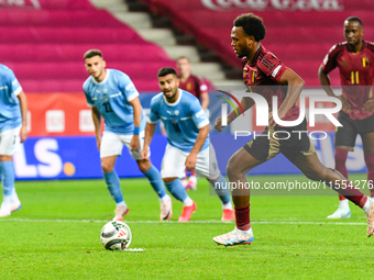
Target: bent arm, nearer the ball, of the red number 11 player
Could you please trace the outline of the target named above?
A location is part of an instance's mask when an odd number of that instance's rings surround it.
[[[333,93],[333,90],[331,88],[331,82],[330,82],[330,77],[329,72],[333,70],[337,67],[337,55],[338,55],[339,49],[337,49],[337,45],[332,46],[329,51],[329,53],[326,55],[323,63],[318,69],[318,78],[319,82],[321,83],[323,90],[329,97],[338,98],[342,102],[342,110],[345,112],[351,111],[351,105],[346,100],[345,96],[336,96]]]

